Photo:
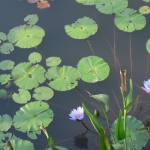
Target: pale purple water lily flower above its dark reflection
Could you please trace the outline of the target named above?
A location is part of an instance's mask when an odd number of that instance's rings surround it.
[[[81,121],[84,119],[84,109],[82,107],[77,107],[77,110],[76,109],[73,109],[69,116],[71,118],[69,118],[70,120],[74,120],[74,121]]]

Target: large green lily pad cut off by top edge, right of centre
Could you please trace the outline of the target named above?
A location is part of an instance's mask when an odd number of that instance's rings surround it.
[[[128,6],[127,0],[96,0],[96,8],[104,14],[116,13]]]

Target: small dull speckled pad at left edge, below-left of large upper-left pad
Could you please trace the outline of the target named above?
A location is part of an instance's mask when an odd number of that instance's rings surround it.
[[[3,45],[0,46],[0,52],[2,54],[10,54],[13,50],[14,46],[11,43],[3,43]]]

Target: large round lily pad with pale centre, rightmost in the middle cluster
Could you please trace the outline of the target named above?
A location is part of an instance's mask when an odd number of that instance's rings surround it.
[[[103,81],[108,77],[110,71],[108,64],[97,56],[82,58],[78,62],[77,69],[81,73],[81,79],[89,83]]]

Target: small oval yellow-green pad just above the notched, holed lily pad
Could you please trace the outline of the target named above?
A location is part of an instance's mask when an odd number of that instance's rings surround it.
[[[49,57],[46,59],[46,65],[49,67],[58,66],[61,63],[60,57]]]

